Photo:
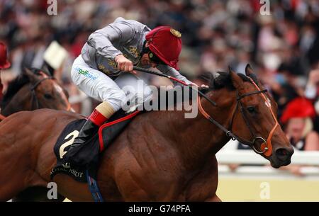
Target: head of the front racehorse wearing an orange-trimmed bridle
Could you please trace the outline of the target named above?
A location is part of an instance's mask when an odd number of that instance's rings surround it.
[[[293,147],[278,123],[276,101],[257,81],[249,64],[245,73],[246,76],[236,74],[230,69],[237,100],[232,117],[233,133],[240,135],[243,144],[249,144],[274,168],[286,166],[291,162]]]

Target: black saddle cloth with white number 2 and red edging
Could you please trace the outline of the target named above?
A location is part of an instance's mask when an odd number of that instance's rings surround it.
[[[124,110],[118,110],[107,123],[101,125],[99,132],[91,137],[88,142],[84,143],[84,147],[79,150],[75,157],[87,158],[90,161],[84,167],[70,167],[69,164],[62,164],[62,158],[67,153],[70,145],[74,142],[75,137],[79,135],[86,119],[74,120],[69,123],[60,136],[53,148],[55,157],[57,157],[57,165],[51,170],[51,179],[56,174],[67,174],[79,182],[87,182],[86,170],[89,176],[96,179],[96,173],[99,164],[99,153],[108,147],[113,140],[121,134],[130,121],[138,115],[140,111],[133,113],[125,113]]]

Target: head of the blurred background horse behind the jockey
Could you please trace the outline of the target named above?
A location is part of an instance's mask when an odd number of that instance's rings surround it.
[[[25,69],[24,74],[30,81],[32,109],[70,109],[67,91],[50,74],[38,69],[37,72]]]

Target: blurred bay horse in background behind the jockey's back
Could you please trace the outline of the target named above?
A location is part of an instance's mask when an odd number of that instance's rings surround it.
[[[70,110],[68,94],[45,70],[25,69],[8,86],[1,102],[2,118],[21,110]]]

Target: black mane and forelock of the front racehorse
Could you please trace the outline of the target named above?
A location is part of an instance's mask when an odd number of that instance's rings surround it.
[[[255,84],[258,85],[257,76],[255,74],[250,74],[250,76],[246,76],[245,74],[237,74],[240,76],[242,81],[250,81],[250,78],[254,81]],[[233,82],[230,78],[229,72],[217,72],[216,76],[213,76],[211,73],[205,73],[201,76],[201,79],[204,79],[208,82],[209,89],[200,89],[201,92],[207,93],[208,91],[218,90],[227,88],[230,91],[235,90],[233,86]]]

